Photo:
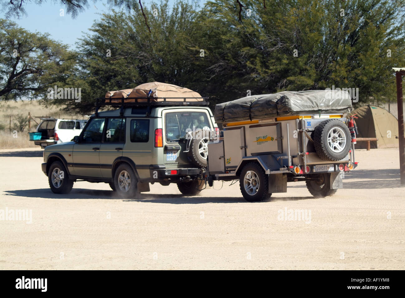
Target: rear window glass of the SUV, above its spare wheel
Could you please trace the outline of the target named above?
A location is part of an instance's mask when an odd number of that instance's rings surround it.
[[[196,131],[208,127],[207,113],[205,112],[173,112],[166,114],[166,141],[175,142],[185,137],[187,131]]]

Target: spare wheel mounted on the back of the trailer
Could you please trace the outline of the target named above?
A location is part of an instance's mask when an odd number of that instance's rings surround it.
[[[316,153],[326,161],[344,159],[352,147],[350,131],[338,119],[322,121],[315,127],[312,138]]]

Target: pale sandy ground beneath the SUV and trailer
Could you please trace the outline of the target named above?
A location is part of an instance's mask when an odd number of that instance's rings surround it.
[[[118,199],[108,184],[88,182],[55,195],[41,150],[0,150],[0,209],[32,210],[30,224],[0,221],[0,269],[403,270],[398,149],[356,152],[359,167],[333,197],[313,199],[296,182],[248,203],[239,182],[197,197],[155,184]],[[285,208],[311,212],[310,221],[279,220]]]

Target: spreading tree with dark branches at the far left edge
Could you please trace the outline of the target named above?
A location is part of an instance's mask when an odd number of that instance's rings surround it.
[[[44,98],[73,73],[75,54],[48,34],[31,33],[12,21],[0,26],[0,99]]]

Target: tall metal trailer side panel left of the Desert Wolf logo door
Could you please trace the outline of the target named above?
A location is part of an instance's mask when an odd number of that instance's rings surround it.
[[[246,156],[245,127],[231,127],[224,130],[225,168],[234,169]]]

